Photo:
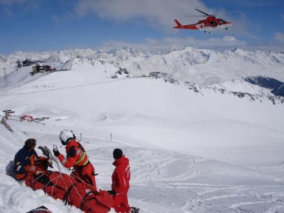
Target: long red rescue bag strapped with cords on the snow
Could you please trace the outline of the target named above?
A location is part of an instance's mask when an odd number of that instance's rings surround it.
[[[28,172],[25,183],[33,189],[43,189],[46,194],[76,206],[84,212],[105,213],[112,207],[112,196],[107,191],[97,192],[89,185],[60,172]]]

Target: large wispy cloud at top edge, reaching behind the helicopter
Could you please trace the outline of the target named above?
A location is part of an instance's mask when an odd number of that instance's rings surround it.
[[[209,14],[217,13],[218,16],[233,22],[232,30],[235,33],[250,34],[249,20],[243,13],[240,12],[238,17],[234,18],[226,10],[216,11],[207,8],[202,0],[79,0],[75,10],[79,16],[94,12],[102,19],[114,21],[142,19],[149,26],[170,31],[175,25],[175,18],[182,24],[196,23],[198,17],[186,17],[200,15],[195,8]]]

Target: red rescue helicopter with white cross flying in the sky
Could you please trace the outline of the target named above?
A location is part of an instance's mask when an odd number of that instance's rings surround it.
[[[195,9],[197,10],[197,9]],[[197,10],[202,12],[201,10]],[[199,20],[196,24],[182,25],[175,19],[177,26],[176,29],[186,29],[186,30],[203,30],[204,33],[211,33],[209,30],[215,30],[216,28],[224,28],[225,30],[229,29],[229,26],[232,26],[231,22],[224,21],[223,19],[216,19],[215,14],[209,15],[206,12],[202,12],[204,15],[190,15],[188,17],[206,17],[206,19]]]

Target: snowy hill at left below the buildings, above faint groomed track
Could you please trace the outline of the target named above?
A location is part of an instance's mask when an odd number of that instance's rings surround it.
[[[32,71],[32,66],[21,67],[17,71],[12,71],[7,77],[0,77],[0,89],[5,91],[19,88],[28,88],[33,85],[33,89],[56,89],[66,86],[80,86],[82,84],[93,84],[100,81],[109,81],[116,75],[118,77],[126,77],[125,73],[117,74],[120,67],[117,64],[110,64],[108,62],[100,62],[96,59],[90,59],[88,57],[75,57],[68,60],[64,64],[60,65],[62,74],[60,78],[56,73],[36,73],[35,75],[29,75]],[[42,76],[48,75],[41,79]],[[65,78],[66,81],[64,80]],[[38,79],[38,80],[37,80]],[[72,80],[70,82],[70,79]],[[33,84],[33,82],[35,84]],[[48,82],[48,84],[45,84]],[[57,86],[55,86],[57,85]],[[31,91],[33,91],[31,89]]]

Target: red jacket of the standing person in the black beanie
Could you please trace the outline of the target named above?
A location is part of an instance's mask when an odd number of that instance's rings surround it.
[[[116,167],[112,174],[112,190],[116,194],[127,193],[130,188],[130,165],[129,160],[125,156],[116,159],[113,163]]]

